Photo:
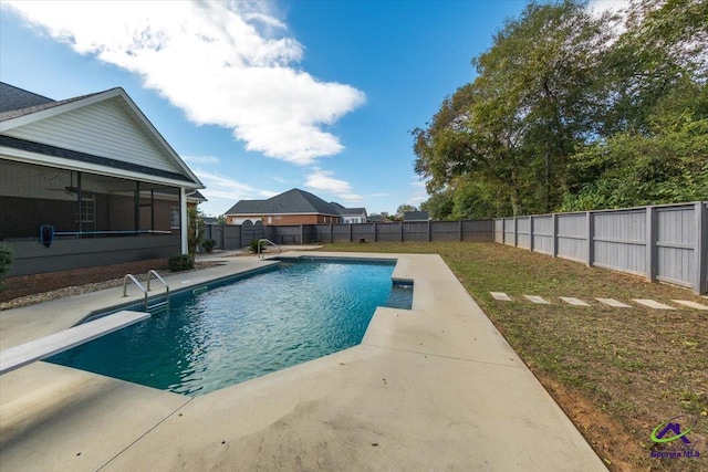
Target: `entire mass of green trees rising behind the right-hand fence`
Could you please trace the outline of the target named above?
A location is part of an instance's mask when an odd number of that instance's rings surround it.
[[[708,199],[708,2],[530,3],[413,132],[436,219]],[[620,32],[622,31],[622,32]]]

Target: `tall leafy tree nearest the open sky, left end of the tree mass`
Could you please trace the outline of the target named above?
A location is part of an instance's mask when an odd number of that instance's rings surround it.
[[[508,21],[472,61],[475,82],[446,98],[428,128],[413,132],[428,191],[475,182],[476,200],[503,199],[481,207],[488,211],[558,207],[569,156],[594,132],[606,20],[565,1],[530,3]]]

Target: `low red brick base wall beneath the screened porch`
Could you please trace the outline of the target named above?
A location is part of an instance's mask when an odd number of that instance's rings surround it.
[[[167,258],[8,277],[4,281],[4,290],[0,292],[0,302],[72,285],[121,279],[125,274],[146,274],[150,269],[157,271],[166,270]]]

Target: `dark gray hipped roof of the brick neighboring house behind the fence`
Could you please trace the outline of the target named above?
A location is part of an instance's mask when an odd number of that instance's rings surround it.
[[[271,197],[268,200],[239,200],[225,214],[340,214],[339,209],[320,197],[300,189]]]

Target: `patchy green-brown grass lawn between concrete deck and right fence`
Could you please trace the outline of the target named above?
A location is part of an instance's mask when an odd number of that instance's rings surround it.
[[[438,253],[610,470],[708,470],[708,305],[690,291],[494,243],[332,244],[326,251]],[[496,301],[504,292],[513,302]],[[522,295],[540,295],[537,305]],[[592,306],[571,306],[559,296]],[[595,297],[632,305],[613,308]],[[659,311],[632,298],[676,307]],[[685,416],[700,458],[657,459],[652,431]],[[676,420],[679,421],[679,420]],[[678,445],[677,445],[678,444]]]

